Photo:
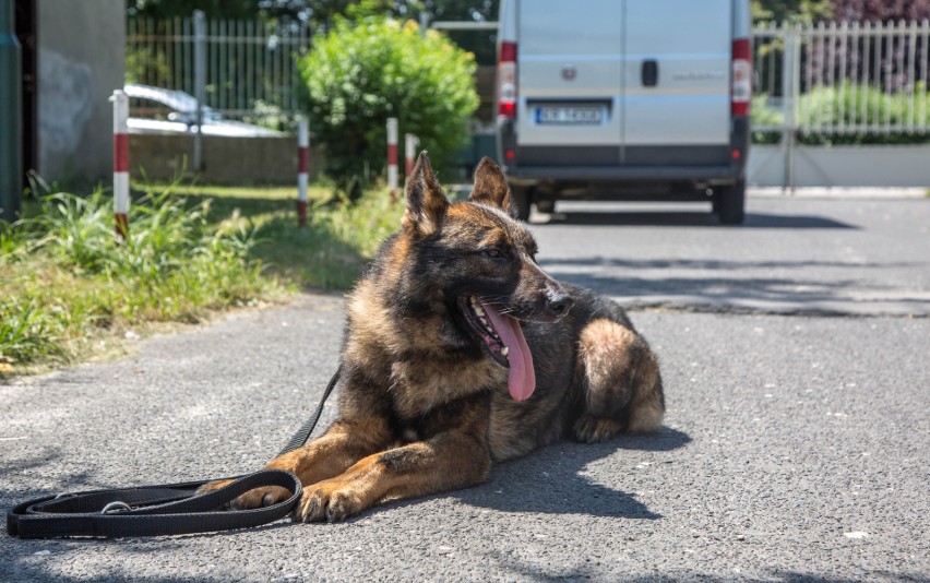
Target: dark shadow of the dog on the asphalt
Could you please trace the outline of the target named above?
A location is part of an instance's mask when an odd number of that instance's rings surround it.
[[[687,433],[663,427],[657,433],[619,437],[604,443],[560,441],[526,457],[497,464],[490,479],[462,490],[456,498],[474,507],[502,512],[585,514],[625,519],[659,519],[632,493],[606,486],[616,474],[600,474],[588,464],[621,450],[670,451],[683,447]],[[634,469],[631,462],[630,471]]]

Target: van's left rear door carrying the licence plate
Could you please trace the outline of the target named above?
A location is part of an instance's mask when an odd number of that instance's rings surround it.
[[[524,1],[516,23],[521,164],[619,164],[622,1]]]

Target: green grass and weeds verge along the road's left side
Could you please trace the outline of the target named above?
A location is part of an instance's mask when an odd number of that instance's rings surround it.
[[[97,356],[156,322],[347,288],[402,211],[383,190],[346,205],[318,187],[298,228],[296,188],[134,190],[124,242],[102,191],[27,201],[0,224],[0,377]]]

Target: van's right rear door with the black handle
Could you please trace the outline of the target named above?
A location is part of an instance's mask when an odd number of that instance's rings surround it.
[[[624,0],[624,163],[728,163],[732,0]]]

